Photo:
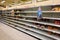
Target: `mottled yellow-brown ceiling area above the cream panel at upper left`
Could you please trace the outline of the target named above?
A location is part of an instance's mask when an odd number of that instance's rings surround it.
[[[2,1],[5,1],[4,3],[1,3]],[[21,2],[25,2],[25,1],[29,1],[29,0],[0,0],[0,6],[1,7],[5,7],[8,5],[14,5],[14,4],[19,4]]]

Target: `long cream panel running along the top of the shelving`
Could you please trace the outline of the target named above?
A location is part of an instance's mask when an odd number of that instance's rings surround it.
[[[44,1],[44,2],[36,2],[36,3],[25,4],[25,5],[18,5],[18,6],[5,8],[3,10],[27,9],[27,8],[32,8],[32,7],[54,6],[54,5],[60,5],[60,0],[48,0],[48,1]]]

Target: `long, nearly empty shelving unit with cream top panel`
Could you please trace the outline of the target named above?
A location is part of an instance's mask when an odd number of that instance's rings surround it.
[[[47,3],[46,3],[47,2]],[[51,3],[48,3],[51,2]],[[12,26],[16,29],[24,31],[41,40],[60,40],[60,25],[55,24],[55,20],[60,21],[60,11],[51,11],[51,6],[60,4],[60,0],[49,0],[45,2],[32,3],[26,5],[20,5],[6,9],[4,16],[2,16],[2,23]],[[36,9],[41,6],[42,9],[46,7],[48,10],[42,10],[42,20],[37,20]],[[28,7],[28,8],[26,8]],[[35,9],[36,8],[36,9]],[[19,11],[22,10],[22,11]],[[9,12],[7,10],[10,10]],[[11,15],[11,10],[17,10],[14,12],[14,16]],[[7,15],[6,15],[7,14]],[[10,15],[9,15],[10,14]],[[47,21],[46,21],[47,20]],[[51,22],[53,21],[53,22]],[[39,26],[38,26],[39,25]],[[41,26],[44,26],[41,28]],[[49,29],[48,26],[54,29]],[[49,34],[50,33],[50,34]]]

